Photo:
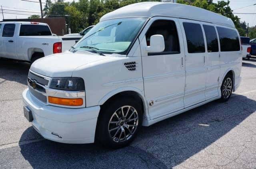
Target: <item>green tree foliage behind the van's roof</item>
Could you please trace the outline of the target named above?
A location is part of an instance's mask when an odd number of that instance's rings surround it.
[[[46,0],[44,14],[46,17],[65,17],[68,28],[76,33],[87,26],[97,24],[100,18],[108,12],[144,1],[148,0],[78,0],[77,2],[57,0],[54,3],[51,0]],[[197,6],[226,16],[232,19],[240,35],[246,35],[246,23],[240,22],[240,18],[232,13],[231,8],[228,7],[228,2],[224,0],[217,3],[213,3],[212,0],[177,0],[177,3]]]

